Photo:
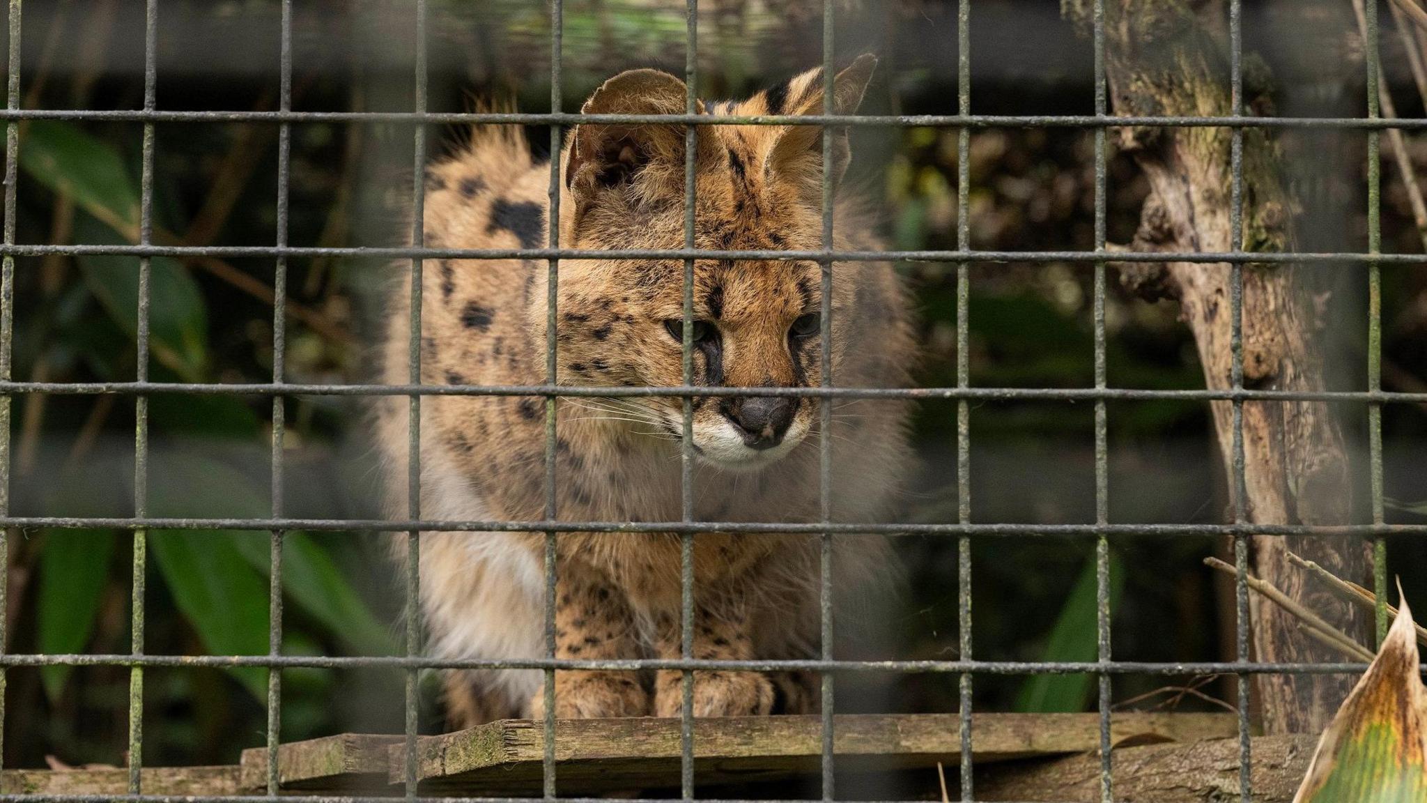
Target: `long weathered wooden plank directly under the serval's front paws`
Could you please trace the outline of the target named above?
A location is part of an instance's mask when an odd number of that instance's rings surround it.
[[[701,784],[769,782],[816,773],[822,720],[816,716],[701,719],[694,723]],[[1233,714],[1122,713],[1114,744],[1190,742],[1236,733]],[[956,714],[845,714],[833,726],[838,767],[889,772],[960,759]],[[977,762],[1056,756],[1099,747],[1097,714],[976,714]],[[561,794],[678,786],[676,719],[559,720],[555,762]],[[504,720],[422,737],[417,774],[431,793],[527,794],[539,790],[542,723]],[[402,744],[390,747],[390,780],[404,772]]]

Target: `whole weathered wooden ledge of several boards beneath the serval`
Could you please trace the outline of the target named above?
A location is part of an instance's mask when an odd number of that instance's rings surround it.
[[[1110,742],[1124,750],[1116,754],[1116,766],[1126,769],[1129,756],[1140,746],[1202,743],[1236,734],[1234,714],[1117,713],[1110,717]],[[935,773],[938,762],[960,762],[960,744],[958,714],[839,714],[833,719],[839,774]],[[1076,754],[1097,752],[1099,746],[1100,717],[1093,713],[979,713],[972,717],[972,754],[977,764],[1057,757],[1072,762],[1077,760]],[[557,720],[558,793],[678,789],[679,747],[678,719]],[[1194,744],[1182,747],[1196,749]],[[542,722],[492,722],[458,733],[422,736],[417,743],[417,776],[424,794],[538,796],[544,754]],[[261,793],[267,787],[267,749],[257,747],[244,750],[241,764],[233,767],[144,769],[143,792],[164,796]],[[694,720],[694,773],[702,789],[816,779],[821,760],[822,717],[818,716]],[[1092,763],[1097,767],[1099,759]],[[278,747],[278,779],[284,792],[400,794],[405,770],[401,736],[347,733]],[[0,773],[0,793],[6,794],[123,794],[127,784],[126,769]]]

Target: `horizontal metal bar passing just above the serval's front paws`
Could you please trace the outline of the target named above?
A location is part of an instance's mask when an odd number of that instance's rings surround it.
[[[1366,663],[1261,662],[997,662],[997,660],[705,660],[705,659],[435,659],[425,656],[166,656],[166,654],[34,654],[0,656],[0,666],[156,666],[183,669],[459,669],[459,670],[723,670],[723,672],[890,672],[900,674],[1361,674]],[[1427,672],[1427,667],[1423,669]]]

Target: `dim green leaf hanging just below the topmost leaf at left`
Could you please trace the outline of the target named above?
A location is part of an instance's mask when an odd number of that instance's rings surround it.
[[[78,216],[81,243],[121,244],[94,219]],[[138,337],[138,259],[113,254],[77,257],[80,273],[104,310],[130,337]],[[187,381],[200,381],[207,363],[208,311],[193,276],[177,261],[150,260],[148,347],[154,359]]]

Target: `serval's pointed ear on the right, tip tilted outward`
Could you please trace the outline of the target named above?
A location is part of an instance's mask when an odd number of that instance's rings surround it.
[[[832,79],[832,113],[856,114],[862,96],[878,67],[876,56],[863,53]],[[822,67],[809,70],[781,87],[765,93],[769,114],[822,114],[825,80]],[[848,150],[848,129],[833,129],[832,180],[841,181],[852,154]],[[782,179],[812,181],[822,179],[822,126],[786,126],[768,157],[768,167]]]

